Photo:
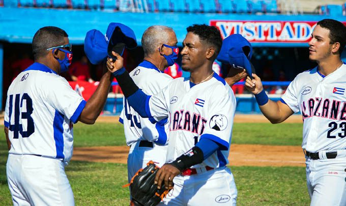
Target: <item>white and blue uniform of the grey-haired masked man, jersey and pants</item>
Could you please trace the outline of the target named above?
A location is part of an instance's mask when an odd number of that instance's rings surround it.
[[[136,85],[146,94],[153,95],[165,88],[172,78],[162,73],[149,61],[141,62],[131,73]],[[124,124],[126,144],[131,146],[127,161],[128,179],[140,168],[147,166],[152,160],[158,166],[166,161],[168,120],[151,123],[148,118],[142,118],[129,106],[126,98],[123,101],[124,109],[120,115],[120,122]],[[154,143],[155,142],[155,143]]]

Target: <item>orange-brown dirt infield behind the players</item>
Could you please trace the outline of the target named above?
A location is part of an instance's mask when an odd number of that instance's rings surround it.
[[[118,117],[101,116],[98,122],[114,122]],[[269,122],[263,115],[236,114],[236,123]],[[302,117],[293,115],[284,123],[300,123]],[[127,163],[129,147],[75,148],[72,160]],[[300,146],[267,146],[233,144],[228,156],[229,164],[235,166],[305,166]]]

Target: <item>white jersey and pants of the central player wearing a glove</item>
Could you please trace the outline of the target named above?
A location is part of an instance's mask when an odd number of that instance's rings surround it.
[[[235,95],[217,74],[191,86],[189,79],[175,79],[147,103],[146,112],[156,121],[169,119],[167,162],[189,151],[202,138],[218,143],[220,148],[191,167],[197,174],[175,177],[172,195],[167,195],[161,204],[235,205],[237,188],[233,174],[226,167],[236,110]]]

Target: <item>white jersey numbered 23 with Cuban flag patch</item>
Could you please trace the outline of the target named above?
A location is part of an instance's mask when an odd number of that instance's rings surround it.
[[[303,117],[302,148],[309,152],[346,148],[346,65],[323,77],[318,67],[300,73],[281,97]]]

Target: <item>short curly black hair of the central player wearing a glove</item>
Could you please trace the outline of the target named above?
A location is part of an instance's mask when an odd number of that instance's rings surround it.
[[[193,24],[186,28],[187,32],[193,32],[198,35],[201,42],[211,45],[215,48],[215,58],[219,54],[222,46],[222,38],[219,29],[215,26],[206,24]]]

